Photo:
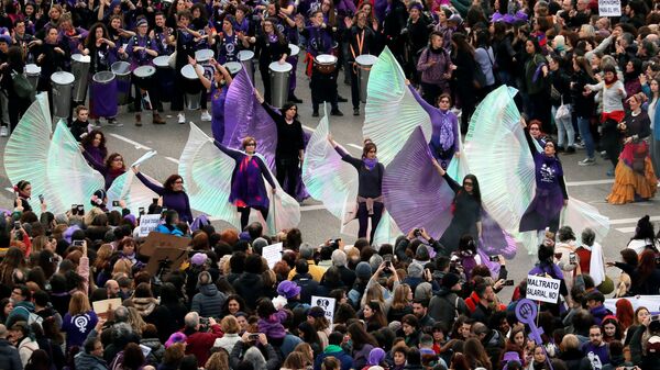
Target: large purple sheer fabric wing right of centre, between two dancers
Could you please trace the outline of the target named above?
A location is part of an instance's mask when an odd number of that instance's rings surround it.
[[[417,126],[387,166],[383,195],[385,209],[400,229],[424,227],[430,236],[439,238],[451,221],[454,193],[431,165],[427,143]]]

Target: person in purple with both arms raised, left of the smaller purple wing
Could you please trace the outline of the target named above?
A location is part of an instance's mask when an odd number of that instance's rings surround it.
[[[204,88],[207,90],[211,89],[211,131],[213,132],[213,138],[218,143],[222,143],[222,138],[224,137],[224,101],[232,78],[227,68],[216,59],[211,59],[210,63],[211,66],[216,67],[212,81],[206,78],[202,71],[197,69],[197,60],[188,58],[188,64],[195,69]]]

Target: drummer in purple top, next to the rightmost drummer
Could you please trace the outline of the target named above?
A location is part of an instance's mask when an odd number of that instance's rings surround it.
[[[319,116],[319,103],[330,102],[332,105],[332,115],[343,115],[337,104],[337,57],[334,57],[334,67],[332,71],[326,74],[318,69],[315,58],[319,55],[332,54],[332,33],[331,29],[323,21],[323,13],[317,10],[309,18],[311,25],[304,27],[298,23],[298,30],[307,38],[307,74],[311,75],[309,88],[311,89],[312,116]]]

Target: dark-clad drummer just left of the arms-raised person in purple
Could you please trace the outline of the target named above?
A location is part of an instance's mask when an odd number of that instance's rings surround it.
[[[179,0],[180,2],[182,0]],[[184,10],[177,13],[178,26],[175,34],[176,40],[176,61],[174,69],[177,71],[174,79],[174,96],[172,97],[172,111],[178,112],[178,123],[186,123],[186,114],[184,114],[184,94],[186,81],[182,76],[180,70],[188,64],[188,57],[195,57],[195,38],[201,37],[197,31],[190,30],[190,12]],[[201,89],[201,86],[199,87]]]

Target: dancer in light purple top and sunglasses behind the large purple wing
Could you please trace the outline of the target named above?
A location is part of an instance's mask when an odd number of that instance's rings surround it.
[[[448,93],[441,94],[438,98],[438,105],[440,106],[438,109],[427,103],[408,80],[406,80],[406,85],[408,85],[410,92],[413,92],[419,105],[424,108],[431,119],[433,131],[429,148],[433,158],[442,166],[442,169],[447,169],[454,154],[459,155],[459,119],[449,110],[451,106],[451,97]]]

